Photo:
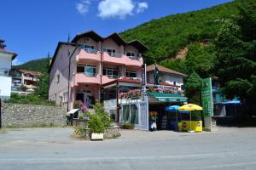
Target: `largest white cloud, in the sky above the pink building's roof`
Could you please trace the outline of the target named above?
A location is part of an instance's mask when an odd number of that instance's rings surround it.
[[[102,0],[98,4],[98,16],[102,19],[125,19],[133,14],[134,8],[135,3],[132,0]]]

